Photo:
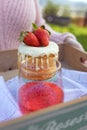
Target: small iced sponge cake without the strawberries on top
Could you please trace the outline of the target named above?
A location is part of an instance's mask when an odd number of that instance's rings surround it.
[[[57,71],[57,60],[58,46],[54,42],[46,47],[31,47],[22,43],[18,48],[18,67],[26,79],[51,78]]]

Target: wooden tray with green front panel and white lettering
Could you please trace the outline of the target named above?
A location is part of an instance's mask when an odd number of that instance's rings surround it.
[[[87,72],[87,52],[68,44],[60,46],[63,67]],[[0,52],[0,75],[8,80],[18,75],[17,50]],[[87,130],[87,96],[55,105],[0,124],[0,130]]]

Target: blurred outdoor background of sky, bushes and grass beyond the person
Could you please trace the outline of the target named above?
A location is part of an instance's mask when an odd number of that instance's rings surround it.
[[[43,17],[58,32],[71,32],[87,51],[87,1],[39,0]]]

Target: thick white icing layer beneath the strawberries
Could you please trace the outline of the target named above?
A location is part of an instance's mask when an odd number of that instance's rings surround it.
[[[29,55],[32,57],[39,57],[50,54],[58,54],[59,47],[55,42],[50,41],[48,46],[45,47],[32,47],[21,43],[18,52],[23,55]]]

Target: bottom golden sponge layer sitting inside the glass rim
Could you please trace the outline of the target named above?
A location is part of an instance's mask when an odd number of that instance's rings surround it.
[[[59,62],[57,65],[52,65],[49,68],[40,69],[38,71],[21,66],[19,67],[19,75],[27,80],[47,80],[52,78],[60,69],[61,64]]]

